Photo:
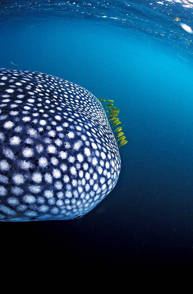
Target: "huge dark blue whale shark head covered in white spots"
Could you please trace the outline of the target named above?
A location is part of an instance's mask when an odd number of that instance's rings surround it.
[[[117,142],[98,99],[69,81],[0,69],[0,220],[85,215],[117,183]]]

